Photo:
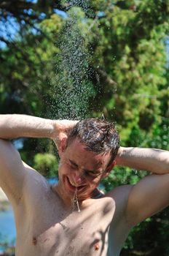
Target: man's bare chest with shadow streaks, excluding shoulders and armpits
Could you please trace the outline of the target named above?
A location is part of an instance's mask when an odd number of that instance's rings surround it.
[[[80,213],[45,207],[29,217],[24,247],[35,256],[106,255],[113,214],[113,203],[103,199],[93,200]]]

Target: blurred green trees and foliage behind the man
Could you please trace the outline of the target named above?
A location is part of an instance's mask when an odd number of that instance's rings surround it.
[[[122,146],[169,150],[168,0],[1,1],[0,112],[117,122]],[[25,162],[55,176],[51,141],[20,139]],[[106,190],[145,173],[115,169]],[[169,255],[168,209],[121,255]]]

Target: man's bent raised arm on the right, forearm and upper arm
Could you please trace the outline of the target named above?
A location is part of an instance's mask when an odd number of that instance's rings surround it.
[[[130,189],[126,209],[130,225],[136,225],[169,205],[169,151],[119,148],[117,165],[152,173]]]

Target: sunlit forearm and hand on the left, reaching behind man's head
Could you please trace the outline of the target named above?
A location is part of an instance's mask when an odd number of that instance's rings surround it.
[[[77,121],[51,120],[36,116],[0,115],[0,138],[50,138],[58,146]]]

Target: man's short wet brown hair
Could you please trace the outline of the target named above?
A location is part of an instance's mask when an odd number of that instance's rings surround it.
[[[79,121],[68,135],[67,146],[78,138],[88,151],[96,154],[111,153],[111,162],[117,156],[119,149],[119,135],[114,123],[100,118],[86,118]]]

